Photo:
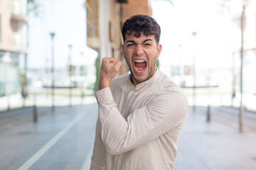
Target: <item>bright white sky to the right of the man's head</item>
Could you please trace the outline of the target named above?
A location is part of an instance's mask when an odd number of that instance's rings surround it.
[[[193,63],[196,67],[232,67],[230,18],[218,0],[150,0],[153,18],[161,26],[161,69],[170,64]],[[192,32],[196,32],[196,39]]]

